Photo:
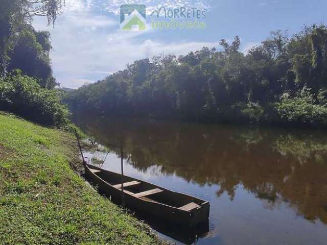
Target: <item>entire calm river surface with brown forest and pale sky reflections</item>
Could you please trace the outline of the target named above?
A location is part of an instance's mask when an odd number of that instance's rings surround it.
[[[112,149],[103,168],[120,173],[123,142],[125,175],[211,203],[209,224],[194,231],[146,220],[164,239],[327,244],[327,131],[127,117],[77,116],[75,122]]]

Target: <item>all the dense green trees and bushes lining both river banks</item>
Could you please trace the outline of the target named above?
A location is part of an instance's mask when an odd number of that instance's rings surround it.
[[[49,25],[61,0],[4,0],[0,7],[0,110],[62,127],[62,105],[51,68],[51,38],[35,31],[34,16]],[[237,36],[220,48],[187,55],[162,54],[127,65],[84,85],[65,101],[72,112],[123,114],[210,122],[327,124],[327,27],[288,36],[272,32],[261,45],[240,51]],[[218,43],[217,43],[218,45]]]

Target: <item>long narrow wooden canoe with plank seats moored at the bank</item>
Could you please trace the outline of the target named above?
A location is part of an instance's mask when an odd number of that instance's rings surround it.
[[[121,204],[123,194],[121,187],[124,183],[125,204],[132,210],[188,227],[208,220],[209,202],[94,165],[84,164],[84,167],[86,178],[97,185],[100,192],[111,197],[115,203]]]

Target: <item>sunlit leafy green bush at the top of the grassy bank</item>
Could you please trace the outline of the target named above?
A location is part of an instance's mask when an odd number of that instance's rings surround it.
[[[17,113],[40,124],[64,127],[68,110],[56,90],[42,88],[37,80],[15,75],[0,80],[0,110]]]

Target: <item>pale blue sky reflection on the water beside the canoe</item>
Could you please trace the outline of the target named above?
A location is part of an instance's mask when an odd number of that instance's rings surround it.
[[[98,159],[106,154],[97,153]],[[86,155],[90,160],[91,155]],[[121,159],[109,153],[103,168],[121,173]],[[200,186],[175,174],[164,174],[161,166],[153,165],[138,170],[124,159],[124,174],[177,192],[194,195],[211,203],[209,233],[197,244],[325,244],[326,226],[319,220],[309,222],[298,216],[287,202],[278,200],[274,204],[260,200],[239,184],[235,198],[231,201],[225,192],[220,197],[219,185]],[[196,169],[193,169],[196,170]],[[164,234],[161,238],[171,239]],[[171,239],[173,240],[173,239]],[[176,244],[183,244],[173,240]]]

